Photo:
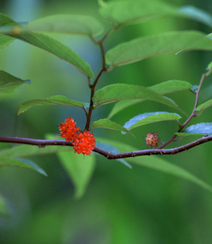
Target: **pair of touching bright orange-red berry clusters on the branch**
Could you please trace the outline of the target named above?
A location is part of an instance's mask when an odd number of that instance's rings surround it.
[[[60,135],[66,141],[72,141],[74,150],[78,154],[90,155],[94,150],[96,139],[93,137],[93,133],[88,131],[79,132],[80,128],[76,127],[76,122],[72,118],[67,118],[65,123],[59,124],[59,130]]]

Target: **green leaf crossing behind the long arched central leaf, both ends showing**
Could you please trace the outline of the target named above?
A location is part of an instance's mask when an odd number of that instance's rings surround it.
[[[158,92],[161,95],[165,95],[165,94],[172,93],[172,92],[189,90],[192,88],[192,85],[187,81],[169,80],[169,81],[165,81],[165,82],[159,83],[154,86],[150,86],[148,88],[153,91]],[[144,101],[143,99],[140,99],[140,100],[135,99],[135,100],[123,100],[123,101],[117,102],[114,105],[114,107],[112,108],[112,110],[108,116],[108,119],[110,119],[115,114],[122,111],[123,109],[125,109],[129,106],[135,105],[137,103],[143,102],[143,101]]]

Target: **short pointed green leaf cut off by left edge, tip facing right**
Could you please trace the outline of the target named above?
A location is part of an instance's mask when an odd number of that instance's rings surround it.
[[[0,93],[13,92],[24,83],[26,83],[24,80],[0,70]]]

